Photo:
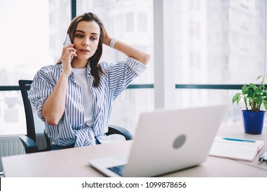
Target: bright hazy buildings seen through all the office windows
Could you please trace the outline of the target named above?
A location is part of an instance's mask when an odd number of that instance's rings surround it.
[[[164,1],[166,3],[166,1]],[[264,0],[168,0],[173,31],[171,60],[176,84],[244,84],[266,72]],[[77,14],[94,12],[110,35],[151,55],[147,70],[133,84],[153,84],[153,0],[80,0]],[[0,86],[18,85],[32,79],[44,65],[58,61],[66,30],[71,22],[69,0],[0,1]],[[167,48],[167,49],[168,49]],[[168,51],[168,50],[164,50]],[[105,47],[103,61],[125,56]],[[164,63],[162,63],[164,64]],[[239,90],[237,90],[239,91]],[[240,108],[231,107],[234,90],[177,89],[174,106],[187,107],[227,102],[227,124],[241,123]],[[110,123],[134,132],[138,116],[154,109],[153,89],[127,89],[114,102]],[[122,112],[123,111],[123,112]],[[19,91],[0,91],[0,135],[26,131]]]

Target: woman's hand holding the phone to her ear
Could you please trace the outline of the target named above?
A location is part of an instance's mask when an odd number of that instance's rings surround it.
[[[71,74],[71,60],[73,57],[77,57],[77,50],[74,48],[74,44],[67,44],[63,47],[61,61],[63,65],[63,71],[66,74]]]

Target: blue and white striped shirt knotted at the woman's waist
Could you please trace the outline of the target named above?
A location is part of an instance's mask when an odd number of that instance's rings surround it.
[[[105,133],[108,130],[108,121],[112,111],[112,101],[131,83],[133,78],[139,76],[146,67],[136,59],[128,57],[125,61],[118,63],[99,63],[104,74],[100,74],[99,86],[94,87],[94,79],[90,74],[88,64],[86,74],[90,90],[94,95],[93,119],[94,124],[90,127],[84,126],[84,107],[82,103],[81,87],[75,82],[74,73],[68,77],[68,89],[66,92],[66,107],[62,119],[57,126],[45,123],[45,132],[52,144],[65,146],[75,143],[75,147],[107,143]],[[62,64],[47,65],[38,70],[34,76],[29,100],[36,107],[38,117],[42,117],[42,106],[45,100],[53,92],[62,72]]]

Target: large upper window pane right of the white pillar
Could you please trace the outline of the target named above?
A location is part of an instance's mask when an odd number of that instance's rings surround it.
[[[175,83],[243,84],[264,74],[266,1],[171,1],[164,22],[175,33]]]

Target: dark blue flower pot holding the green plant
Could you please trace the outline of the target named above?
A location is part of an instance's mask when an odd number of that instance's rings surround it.
[[[266,111],[253,112],[251,110],[243,110],[242,119],[244,132],[247,134],[262,134],[265,112]]]

